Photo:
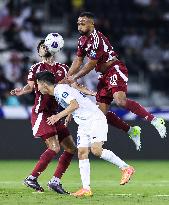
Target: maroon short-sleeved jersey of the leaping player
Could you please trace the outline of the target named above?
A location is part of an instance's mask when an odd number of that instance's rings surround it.
[[[98,60],[95,67],[97,72],[103,63],[106,63],[117,54],[113,51],[109,40],[99,31],[94,31],[87,37],[81,36],[78,40],[77,56],[87,56],[91,60]]]

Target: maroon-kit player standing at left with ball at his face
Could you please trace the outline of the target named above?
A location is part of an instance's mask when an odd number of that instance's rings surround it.
[[[48,187],[60,194],[67,194],[60,180],[72,160],[76,146],[68,128],[61,121],[54,125],[48,125],[46,122],[49,116],[56,113],[58,104],[54,97],[49,95],[43,96],[38,91],[35,75],[40,71],[48,70],[54,74],[55,80],[58,82],[67,74],[68,66],[54,61],[54,55],[47,50],[44,40],[39,42],[37,51],[42,61],[31,66],[28,74],[28,84],[23,88],[15,88],[11,91],[12,95],[17,96],[35,91],[35,103],[31,115],[33,135],[35,138],[40,137],[43,139],[47,145],[47,150],[40,156],[32,173],[24,180],[24,184],[37,191],[44,191],[37,179],[60,151],[61,145],[64,148],[64,152],[58,160],[58,166],[53,178],[48,183]]]

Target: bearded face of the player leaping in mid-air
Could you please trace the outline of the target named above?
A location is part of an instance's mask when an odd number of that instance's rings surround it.
[[[89,35],[94,27],[94,22],[92,19],[87,17],[79,17],[77,21],[78,31],[81,35]]]

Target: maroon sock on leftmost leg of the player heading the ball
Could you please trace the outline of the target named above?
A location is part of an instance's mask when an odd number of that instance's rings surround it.
[[[38,163],[36,164],[34,170],[32,171],[32,176],[34,177],[38,177],[41,172],[43,172],[46,167],[48,166],[48,164],[50,163],[50,161],[53,159],[53,157],[56,155],[56,152],[51,150],[51,149],[47,149],[41,156],[40,159],[38,161]]]

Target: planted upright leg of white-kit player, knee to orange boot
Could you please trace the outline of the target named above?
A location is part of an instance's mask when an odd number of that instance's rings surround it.
[[[78,148],[78,158],[79,158],[79,169],[80,176],[82,181],[82,188],[75,193],[72,193],[73,196],[92,196],[92,191],[90,189],[90,162],[88,159],[89,148],[88,147],[79,147]]]

